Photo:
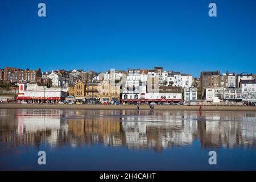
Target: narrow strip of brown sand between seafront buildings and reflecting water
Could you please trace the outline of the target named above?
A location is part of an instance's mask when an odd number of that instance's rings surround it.
[[[52,105],[52,104],[0,104],[0,109],[89,109],[89,110],[136,110],[136,105]],[[150,110],[140,105],[140,110]],[[199,106],[155,105],[154,110],[199,110]],[[202,106],[205,111],[256,111],[256,106]]]

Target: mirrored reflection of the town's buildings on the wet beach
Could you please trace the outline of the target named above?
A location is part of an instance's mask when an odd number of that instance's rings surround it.
[[[256,113],[0,109],[0,141],[51,148],[83,144],[162,151],[173,146],[255,147]]]

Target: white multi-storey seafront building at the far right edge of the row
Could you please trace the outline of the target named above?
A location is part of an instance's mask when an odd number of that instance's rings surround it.
[[[256,103],[256,81],[241,80],[242,101]]]

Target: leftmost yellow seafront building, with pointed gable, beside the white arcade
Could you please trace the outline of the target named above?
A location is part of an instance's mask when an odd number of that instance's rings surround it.
[[[82,82],[77,82],[74,85],[69,85],[69,95],[74,96],[76,101],[85,101],[85,89],[86,86]]]

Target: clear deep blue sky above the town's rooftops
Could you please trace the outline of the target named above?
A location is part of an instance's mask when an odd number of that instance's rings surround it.
[[[0,68],[256,73],[255,9],[255,0],[1,0]]]

